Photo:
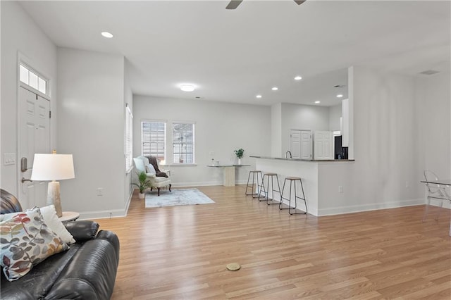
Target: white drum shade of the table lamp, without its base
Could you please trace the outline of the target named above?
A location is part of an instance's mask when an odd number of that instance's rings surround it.
[[[75,178],[72,154],[35,154],[31,180]]]

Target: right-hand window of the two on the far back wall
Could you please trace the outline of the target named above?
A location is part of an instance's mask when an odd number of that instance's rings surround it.
[[[173,123],[173,163],[194,163],[194,124]]]

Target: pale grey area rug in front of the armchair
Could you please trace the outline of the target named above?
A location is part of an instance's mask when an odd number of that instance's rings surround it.
[[[146,208],[210,203],[214,201],[199,189],[173,189],[172,192],[160,193],[160,196],[157,196],[156,192],[146,194]]]

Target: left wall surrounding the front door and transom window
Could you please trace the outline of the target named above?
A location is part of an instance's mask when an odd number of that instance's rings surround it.
[[[50,79],[51,111],[56,112],[56,46],[15,1],[1,1],[1,182],[18,195],[18,55]],[[56,144],[56,114],[50,121],[51,147]],[[16,154],[15,165],[4,165],[5,153]]]

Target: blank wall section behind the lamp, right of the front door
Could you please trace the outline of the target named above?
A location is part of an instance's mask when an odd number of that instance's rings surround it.
[[[58,48],[58,149],[75,168],[61,199],[80,218],[126,213],[124,93],[123,56]]]

